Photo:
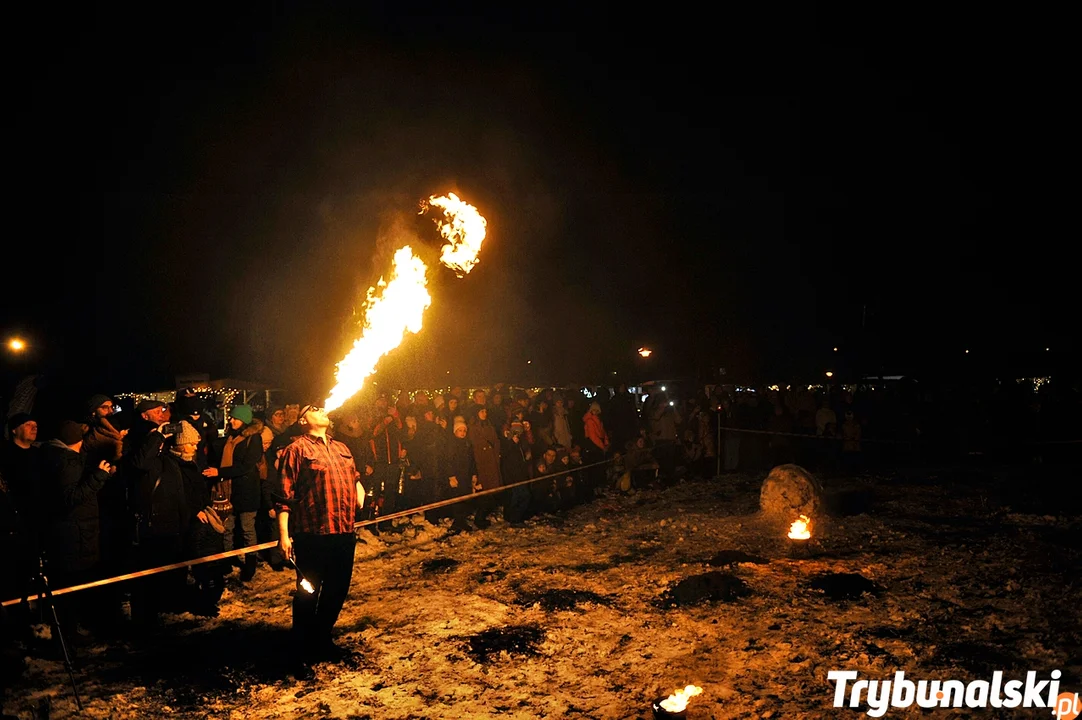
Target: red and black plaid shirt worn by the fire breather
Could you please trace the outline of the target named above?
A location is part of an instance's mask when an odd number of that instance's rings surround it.
[[[360,473],[344,443],[301,435],[281,458],[282,508],[294,533],[352,533]]]

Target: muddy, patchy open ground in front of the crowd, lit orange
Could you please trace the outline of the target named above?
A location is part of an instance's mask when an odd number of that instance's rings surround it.
[[[1025,677],[1082,690],[1079,475],[1040,466],[821,475],[807,559],[756,516],[762,476],[609,495],[526,527],[358,544],[338,624],[352,659],[288,675],[291,576],[229,579],[221,616],[153,643],[81,640],[88,718],[860,717],[832,669]],[[683,584],[682,584],[683,582]],[[63,665],[29,658],[3,710],[78,717]],[[1027,712],[1029,715],[1027,715]],[[1048,710],[890,710],[1040,717]]]

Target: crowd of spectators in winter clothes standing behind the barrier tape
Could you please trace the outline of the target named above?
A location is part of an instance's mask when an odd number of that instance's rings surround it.
[[[494,519],[522,524],[605,488],[783,462],[859,468],[883,457],[873,447],[919,459],[1007,446],[1030,461],[1042,453],[1030,443],[1077,438],[1082,417],[1071,389],[1021,384],[964,396],[912,384],[644,390],[371,392],[333,413],[331,432],[361,473],[357,520],[372,521],[362,533],[380,542],[401,528],[387,515],[533,479],[542,480],[430,509],[426,522],[473,532]],[[0,597],[18,597],[39,571],[66,587],[277,540],[278,458],[301,434],[300,407],[238,405],[222,422],[188,390],[171,404],[144,400],[120,422],[115,398],[94,395],[44,442],[32,415],[11,415],[0,449],[0,557],[14,572],[0,575]],[[163,612],[215,615],[227,576],[237,572],[242,586],[263,564],[278,571],[283,561],[273,549],[248,552],[58,598],[57,608],[80,633],[147,634]]]

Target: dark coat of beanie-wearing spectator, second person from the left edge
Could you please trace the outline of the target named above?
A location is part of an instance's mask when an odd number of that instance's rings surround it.
[[[60,573],[91,570],[101,558],[97,493],[109,475],[97,468],[85,468],[81,453],[56,440],[42,447],[41,460],[41,511],[49,566]]]

